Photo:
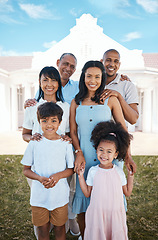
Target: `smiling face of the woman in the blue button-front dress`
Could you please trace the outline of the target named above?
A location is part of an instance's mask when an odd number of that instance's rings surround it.
[[[85,85],[90,92],[95,92],[101,85],[102,71],[98,67],[90,67],[85,72]]]

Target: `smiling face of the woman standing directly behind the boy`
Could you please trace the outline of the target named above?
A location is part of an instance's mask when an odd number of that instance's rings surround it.
[[[39,84],[45,95],[54,95],[59,87],[58,81],[56,79],[49,78],[42,74]]]

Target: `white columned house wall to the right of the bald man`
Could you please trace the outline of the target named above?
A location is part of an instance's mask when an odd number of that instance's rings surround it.
[[[152,69],[125,71],[136,85],[139,95],[139,119],[136,130],[158,132],[158,72]]]

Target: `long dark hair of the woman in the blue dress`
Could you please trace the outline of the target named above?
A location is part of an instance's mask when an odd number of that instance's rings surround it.
[[[96,103],[100,103],[100,94],[104,90],[105,83],[106,83],[105,68],[104,68],[103,64],[99,61],[88,61],[88,62],[85,63],[85,65],[82,68],[82,73],[81,73],[80,80],[79,80],[79,92],[75,96],[75,102],[76,102],[77,105],[79,105],[80,102],[82,102],[87,95],[88,89],[87,89],[86,84],[85,84],[85,72],[88,68],[91,68],[91,67],[92,68],[97,67],[102,72],[101,85],[96,90],[95,96],[92,98],[92,101],[94,101]]]

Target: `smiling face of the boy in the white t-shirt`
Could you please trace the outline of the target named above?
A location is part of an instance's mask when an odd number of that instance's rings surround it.
[[[59,119],[57,116],[51,116],[40,119],[40,126],[45,136],[56,134],[59,126]]]

